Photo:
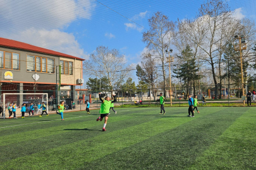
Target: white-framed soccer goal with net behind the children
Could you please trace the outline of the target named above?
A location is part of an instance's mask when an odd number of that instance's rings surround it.
[[[1,107],[3,108],[3,112],[0,118],[6,118],[9,116],[8,106],[16,103],[16,116],[21,115],[21,105],[26,103],[26,112],[25,115],[28,114],[30,110],[30,103],[34,105],[34,114],[39,112],[39,108],[37,105],[42,102],[45,103],[47,113],[48,113],[48,94],[47,93],[3,93],[1,94]],[[41,109],[42,110],[42,109]]]

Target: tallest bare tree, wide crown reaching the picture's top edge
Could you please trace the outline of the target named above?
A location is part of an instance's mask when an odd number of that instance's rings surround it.
[[[205,57],[202,59],[210,64],[216,89],[218,86],[216,64],[219,68],[219,76],[221,76],[221,60],[224,48],[242,27],[240,22],[233,18],[228,4],[222,0],[207,1],[201,5],[198,18],[195,21],[186,20],[183,22],[183,31],[204,52]]]

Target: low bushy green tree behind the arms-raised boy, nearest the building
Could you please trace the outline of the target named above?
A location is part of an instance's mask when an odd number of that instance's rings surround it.
[[[109,81],[106,76],[102,77],[101,79],[89,78],[86,85],[92,91],[104,91],[105,93],[110,91]]]

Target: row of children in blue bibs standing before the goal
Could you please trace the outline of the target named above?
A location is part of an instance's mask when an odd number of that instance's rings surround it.
[[[18,108],[18,106],[16,105],[16,103],[9,104],[8,106],[8,111],[9,111],[9,118],[11,118],[11,115],[13,115],[13,118],[17,118],[16,117],[16,109]],[[37,105],[37,113],[39,112],[39,110],[42,108],[42,113],[40,115],[40,117],[42,117],[42,115],[44,113],[46,113],[46,115],[48,116],[48,113],[46,112],[46,105],[44,104],[44,102],[42,102],[42,105],[40,105],[40,103]],[[23,103],[21,105],[21,118],[25,118],[25,112],[27,110],[27,104]],[[29,106],[29,112],[28,112],[28,116],[34,116],[34,110],[35,110],[35,106],[33,103],[30,103]]]

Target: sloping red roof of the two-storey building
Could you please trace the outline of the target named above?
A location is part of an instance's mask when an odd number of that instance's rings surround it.
[[[79,57],[75,57],[72,55],[68,55],[68,54],[63,54],[61,52],[56,52],[53,50],[48,50],[46,48],[41,48],[41,47],[37,47],[34,45],[30,45],[28,43],[23,43],[23,42],[18,42],[15,40],[9,40],[6,38],[1,38],[0,37],[0,46],[1,47],[10,47],[10,48],[16,48],[16,49],[20,49],[20,50],[27,50],[30,52],[39,52],[42,54],[49,54],[49,55],[55,55],[55,56],[59,56],[59,57],[66,57],[66,58],[70,58],[70,59],[76,59],[76,60],[84,60],[81,59]]]

